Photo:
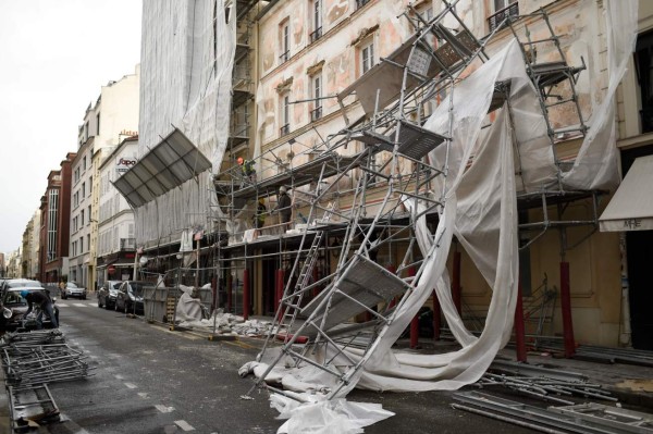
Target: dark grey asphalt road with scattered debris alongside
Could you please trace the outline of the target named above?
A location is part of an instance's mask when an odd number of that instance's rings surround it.
[[[237,369],[258,352],[258,339],[211,342],[186,332],[107,311],[96,300],[58,300],[61,330],[88,356],[93,376],[53,383],[62,423],[49,433],[275,433],[264,392]],[[455,410],[449,393],[379,394],[354,390],[352,401],[380,402],[395,416],[366,427],[373,433],[531,433],[513,424]]]

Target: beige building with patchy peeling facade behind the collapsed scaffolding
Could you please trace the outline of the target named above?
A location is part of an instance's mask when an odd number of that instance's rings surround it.
[[[575,99],[568,104],[560,103],[547,109],[547,122],[551,129],[556,132],[552,138],[556,170],[565,173],[577,158],[587,132],[583,128],[593,121],[597,104],[607,92],[611,71],[606,57],[604,4],[568,0],[455,3],[456,14],[477,38],[482,39],[492,34],[490,42],[484,46],[490,58],[514,38],[513,30],[518,34],[522,46],[530,44],[526,39],[526,29],[530,30],[533,40],[554,36],[559,42],[560,50],[549,44],[539,46],[534,52],[540,61],[547,58],[554,60],[562,52],[574,75],[572,80],[567,80],[562,86],[567,95],[572,90]],[[443,2],[440,1],[270,2],[259,12],[255,24],[258,79],[255,80],[255,104],[247,112],[251,114],[250,123],[254,126],[250,137],[256,139],[249,141],[247,148],[234,149],[231,161],[235,161],[236,157],[254,159],[259,183],[300,170],[303,164],[310,162],[324,149],[325,144],[332,145],[334,141],[330,140],[337,140],[333,137],[346,126],[346,120],[355,122],[368,112],[356,95],[348,94],[352,85],[408,39],[415,30],[418,15],[428,21],[443,8]],[[540,8],[543,8],[552,24],[553,35],[540,14]],[[652,11],[648,9],[645,2],[640,2],[639,46],[645,44],[645,35],[650,29]],[[529,14],[533,15],[516,21],[513,26],[500,25],[507,16]],[[438,42],[434,36],[435,47]],[[641,50],[644,53],[644,49]],[[649,61],[648,58],[645,61]],[[471,65],[464,76],[475,67],[478,66]],[[641,77],[638,79],[637,72],[641,67],[630,60],[617,91],[618,110],[615,120],[619,125],[618,147],[621,150],[623,166],[614,169],[624,172],[636,157],[650,153],[646,145],[651,141],[646,138],[644,116],[648,113],[646,101],[643,97],[646,90],[642,88],[642,83],[649,85],[648,80]],[[574,89],[569,88],[571,82]],[[377,84],[380,87],[384,85]],[[387,86],[392,86],[392,83]],[[438,102],[432,100],[424,103],[420,115],[427,117]],[[373,106],[373,100],[371,104]],[[233,116],[237,114],[233,113]],[[350,146],[338,151],[342,154],[356,154],[365,146],[364,142],[352,141]],[[374,160],[372,169],[385,168],[387,156],[379,153],[374,156]],[[409,168],[399,170],[407,171]],[[383,170],[381,172],[383,174]],[[353,176],[337,181],[338,195],[333,202],[341,212],[347,211],[352,206],[354,179],[359,175],[359,171],[354,171]],[[310,194],[310,190],[305,185],[293,188],[293,177],[288,176],[285,185],[294,190],[296,202],[293,222],[301,224],[301,216],[306,216],[308,212],[307,207],[301,208],[301,198],[304,193]],[[275,184],[274,188],[278,187],[279,184]],[[636,347],[650,349],[652,343],[646,336],[652,334],[649,333],[650,325],[642,319],[645,315],[639,312],[631,319],[628,309],[632,306],[641,310],[642,306],[650,305],[643,290],[644,282],[638,277],[638,287],[633,287],[630,273],[631,287],[628,295],[628,280],[621,273],[626,261],[621,260],[620,253],[620,246],[626,245],[624,239],[627,238],[627,257],[644,258],[643,247],[637,246],[650,245],[645,241],[650,232],[630,232],[625,238],[618,233],[599,232],[599,216],[609,197],[603,194],[604,190],[592,188],[587,188],[579,195],[569,195],[569,191],[550,191],[547,201],[543,201],[541,197],[533,199],[532,195],[526,194],[519,199],[522,247],[520,282],[529,317],[527,332],[554,339],[564,335],[559,290],[565,287],[570,294],[577,343],[606,346],[628,346],[634,343]],[[367,193],[370,203],[368,212],[372,213],[372,203],[380,198],[380,193],[374,188]],[[249,196],[255,201],[257,197],[263,197],[268,209],[273,209],[276,203],[273,189],[263,191],[259,188],[257,195]],[[267,218],[262,235],[274,236],[274,226],[279,224],[276,219],[276,215]],[[251,226],[244,228],[242,235],[249,227]],[[238,243],[232,243],[232,250],[225,249],[225,255],[251,258],[251,265],[247,265],[254,270],[254,277],[250,277],[254,282],[251,309],[256,313],[267,314],[275,307],[272,296],[274,289],[270,287],[270,282],[274,281],[278,269],[288,265],[283,264],[284,248],[280,248],[280,244],[263,244],[262,238],[259,241],[261,243],[247,244],[246,249]],[[330,243],[335,241],[337,239],[334,238]],[[284,243],[291,243],[289,238],[284,237]],[[379,263],[386,264],[393,259],[396,261],[401,257],[397,253],[406,246],[397,244],[394,248],[398,250],[380,251]],[[292,251],[292,248],[286,251]],[[319,266],[333,268],[333,259],[329,255],[323,256],[321,261],[331,264]],[[629,259],[628,270],[641,266],[639,262],[639,259]],[[236,281],[242,282],[241,270],[245,263],[249,263],[249,260],[245,259],[234,265],[233,272],[225,280],[230,281],[235,276]],[[396,268],[399,264],[392,265]],[[457,273],[459,278],[463,317],[470,327],[473,328],[475,324],[482,326],[492,296],[490,286],[460,247],[457,252],[451,253],[449,269],[456,269],[454,274]],[[565,278],[567,270],[568,280]],[[639,275],[637,271],[634,274]],[[232,287],[234,284],[227,283],[226,286]],[[538,313],[541,311],[546,313]],[[630,339],[631,324],[634,342]]]

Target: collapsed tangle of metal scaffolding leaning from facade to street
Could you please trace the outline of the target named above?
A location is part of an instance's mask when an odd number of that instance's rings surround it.
[[[380,64],[338,94],[346,127],[337,134],[330,135],[320,146],[312,147],[309,162],[296,166],[285,164],[282,168],[283,164],[278,156],[273,156],[281,169],[276,175],[251,181],[238,172],[231,182],[219,179],[215,183],[223,198],[222,203],[226,203],[226,207],[234,211],[232,216],[242,208],[236,204],[237,200],[242,204],[247,200],[258,200],[261,196],[272,197],[281,186],[285,185],[292,185],[293,189],[308,187],[301,189],[303,200],[309,206],[308,216],[301,230],[295,232],[296,235],[300,235],[299,247],[295,251],[291,271],[291,275],[296,278],[285,283],[283,294],[279,297],[275,326],[260,355],[259,361],[262,362],[252,363],[250,367],[258,377],[256,385],[266,385],[273,392],[295,399],[306,399],[293,392],[304,389],[297,387],[297,384],[292,385],[292,381],[275,371],[282,367],[295,370],[308,368],[310,373],[304,374],[304,377],[310,377],[313,383],[323,381],[324,376],[331,377],[332,381],[324,381],[320,383],[321,387],[317,386],[326,399],[331,399],[346,395],[357,383],[365,383],[366,387],[384,389],[408,389],[410,386],[411,389],[456,388],[459,387],[459,382],[468,384],[470,381],[478,380],[486,368],[486,360],[484,360],[476,368],[454,372],[449,379],[455,377],[456,381],[448,383],[444,381],[442,383],[446,384],[441,386],[420,383],[419,387],[416,387],[416,383],[421,380],[407,381],[403,383],[404,385],[398,385],[393,381],[384,382],[373,373],[361,372],[366,364],[368,368],[372,367],[372,372],[373,369],[383,371],[383,368],[387,367],[383,364],[384,351],[390,348],[393,338],[403,332],[407,322],[415,315],[416,309],[426,300],[423,295],[414,296],[418,293],[416,289],[419,286],[430,286],[429,294],[432,288],[435,288],[440,301],[451,305],[451,295],[446,295],[448,290],[446,276],[443,275],[442,278],[440,275],[433,276],[438,274],[433,270],[444,269],[442,252],[446,256],[451,243],[451,235],[445,231],[452,228],[453,223],[441,225],[447,219],[447,201],[453,202],[455,207],[455,200],[447,197],[447,191],[451,191],[447,188],[451,188],[451,185],[459,186],[464,172],[473,172],[468,166],[472,164],[472,156],[475,159],[485,157],[483,150],[478,147],[473,152],[465,150],[463,156],[454,153],[458,150],[452,149],[452,141],[455,140],[456,134],[460,139],[460,129],[464,126],[456,124],[455,121],[460,120],[454,119],[449,112],[454,110],[455,89],[459,89],[458,85],[473,80],[475,76],[468,70],[469,66],[475,64],[475,67],[480,69],[477,63],[490,63],[484,47],[494,33],[483,40],[477,39],[456,15],[454,11],[456,2],[443,3],[445,4],[443,11],[429,22],[424,22],[414,13],[411,20],[416,26],[415,34],[391,55],[382,59]],[[547,37],[535,40],[530,38],[529,25],[535,18],[545,24],[550,32]],[[444,25],[445,22],[447,26]],[[449,27],[452,22],[456,23],[455,29]],[[512,179],[513,185],[510,187],[508,185],[510,183],[504,183],[501,188],[504,195],[506,191],[507,195],[503,197],[513,195],[514,199],[518,198],[520,209],[528,210],[537,207],[543,216],[540,222],[528,221],[519,225],[522,233],[538,232],[535,235],[528,235],[521,247],[528,248],[547,230],[556,227],[560,230],[564,255],[564,251],[570,248],[565,236],[566,227],[589,226],[590,233],[582,238],[587,239],[596,227],[597,197],[603,193],[600,187],[614,181],[611,178],[612,174],[606,174],[603,178],[595,176],[590,181],[578,182],[581,176],[579,172],[582,172],[578,168],[586,170],[587,168],[577,164],[577,161],[565,161],[555,152],[558,141],[568,139],[570,134],[576,134],[576,137],[583,141],[583,146],[587,141],[588,127],[575,89],[578,76],[584,69],[584,62],[581,66],[567,64],[558,37],[544,10],[528,16],[508,17],[504,25],[509,26],[516,37],[515,46],[518,47],[521,69],[525,70],[520,78],[528,80],[528,84],[519,83],[514,77],[495,80],[492,84],[491,98],[486,101],[484,113],[481,114],[491,113],[485,121],[493,125],[503,123],[507,125],[505,131],[514,133],[508,133],[510,137],[507,141],[510,148],[515,148],[517,168],[512,164],[512,157],[506,159],[504,156],[504,160],[495,160],[500,163],[510,161],[509,170],[505,164],[502,165],[504,181]],[[503,25],[497,26],[496,29],[502,27]],[[436,42],[433,44],[434,41]],[[549,51],[556,52],[559,58],[555,60],[545,58],[545,61],[538,61],[538,49],[534,47],[539,44],[552,45],[554,49]],[[507,47],[504,51],[509,52],[510,49]],[[542,51],[540,49],[540,54]],[[501,73],[494,73],[496,77],[501,76]],[[383,88],[379,88],[379,83],[383,83]],[[516,83],[522,87],[515,86]],[[512,102],[513,98],[519,97],[519,92],[532,92],[534,99],[526,103],[517,100]],[[353,96],[362,107],[365,114],[350,122],[347,117],[347,104],[354,100]],[[433,111],[434,114],[430,113],[428,107],[432,101],[439,104]],[[532,110],[533,101],[538,103],[537,111]],[[521,106],[514,107],[512,103],[521,103]],[[577,124],[556,128],[550,120],[550,112],[563,104],[571,104],[576,108]],[[500,108],[505,110],[497,114],[496,110]],[[515,110],[520,111],[525,108],[529,110],[529,114],[537,116],[535,124],[539,132],[529,137],[532,142],[522,140],[523,128],[520,129],[519,125],[515,124]],[[440,116],[436,116],[438,114]],[[481,126],[480,123],[477,125]],[[469,125],[465,125],[467,126]],[[480,140],[489,140],[489,137],[492,138],[496,134],[501,133],[488,128],[488,133],[482,136],[471,133],[466,138],[471,138],[470,141],[473,144],[477,137],[480,137]],[[294,141],[296,140],[292,139],[289,144]],[[362,144],[362,150],[359,150],[360,147],[353,146],[358,151],[344,151],[352,142]],[[471,148],[469,145],[468,147]],[[582,154],[583,150],[581,148],[579,154]],[[441,152],[440,159],[436,156],[438,151]],[[379,166],[377,157],[382,152],[389,153],[390,157]],[[545,158],[542,158],[543,156]],[[293,157],[288,153],[288,160]],[[261,158],[264,159],[264,154]],[[605,162],[605,156],[601,158],[603,158],[602,162]],[[456,162],[463,161],[463,164],[457,168],[454,178],[447,179],[452,176],[449,172],[453,159],[457,159]],[[488,161],[492,163],[492,160]],[[238,171],[239,168],[235,170]],[[514,171],[517,173],[515,174]],[[340,179],[356,172],[360,173],[360,176],[353,188],[353,197],[345,211],[335,207],[328,198],[334,193]],[[508,172],[513,173],[506,175]],[[517,179],[512,176],[516,176]],[[515,185],[518,191],[515,190]],[[338,191],[332,196],[337,194]],[[381,199],[370,201],[370,197],[375,199],[381,197]],[[563,213],[570,202],[588,198],[591,200],[593,211],[587,220],[563,219]],[[551,204],[558,206],[557,219],[547,214]],[[505,216],[516,223],[515,211],[516,207],[515,210],[510,210],[509,207],[502,209],[502,219]],[[368,216],[368,213],[373,216]],[[434,216],[431,223],[438,222],[434,234],[428,232],[427,215]],[[515,237],[510,238],[506,235],[510,233],[510,225],[501,226],[500,232],[502,231],[502,237],[507,239],[500,239],[498,246],[505,250],[509,250],[510,246],[517,246]],[[512,232],[516,234],[516,225]],[[234,233],[235,231],[232,231],[232,234]],[[255,231],[249,235],[256,236],[256,233]],[[316,280],[313,278],[316,257],[325,246],[324,240],[336,233],[341,235],[337,264],[333,272]],[[469,233],[467,234],[469,236]],[[456,236],[465,238],[465,231],[457,228]],[[399,266],[396,270],[386,270],[375,261],[377,255],[389,244],[399,239],[407,240],[408,247],[405,249]],[[248,239],[246,236],[245,245],[250,240],[251,238]],[[417,251],[418,245],[421,255]],[[470,246],[469,241],[467,246]],[[439,257],[436,261],[433,259],[434,256]],[[512,256],[508,256],[506,261],[508,264],[504,263],[503,269],[498,269],[500,262],[497,269],[485,270],[486,274],[481,270],[495,292],[497,283],[514,289],[502,296],[504,306],[494,307],[494,309],[505,308],[502,312],[504,317],[506,311],[512,312],[515,309],[517,298],[515,257],[516,249]],[[318,294],[316,289],[319,289]],[[421,289],[423,288],[420,288],[420,294],[423,293]],[[490,307],[490,311],[489,317],[492,313],[497,315],[496,311],[493,312],[493,306]],[[357,315],[365,315],[366,321],[350,323],[349,320]],[[445,317],[447,317],[446,312]],[[458,328],[454,334],[464,347],[461,352],[467,352],[463,356],[469,356],[473,351],[495,351],[507,343],[512,330],[510,318],[496,326],[492,337],[494,342],[489,343],[490,338],[481,336],[476,339],[466,333],[460,323],[456,324],[456,318],[451,315],[451,312],[447,321],[449,325]],[[282,343],[280,350],[272,349],[276,342]],[[402,359],[398,364],[409,364],[406,360],[408,359]],[[419,365],[420,362],[416,363]],[[441,374],[443,372],[446,374],[447,369],[441,369],[441,372],[431,379],[446,379],[446,375],[441,376]],[[418,374],[407,373],[407,375]],[[401,374],[397,376],[402,377]],[[361,377],[365,381],[361,381]],[[421,379],[419,375],[417,377]]]

